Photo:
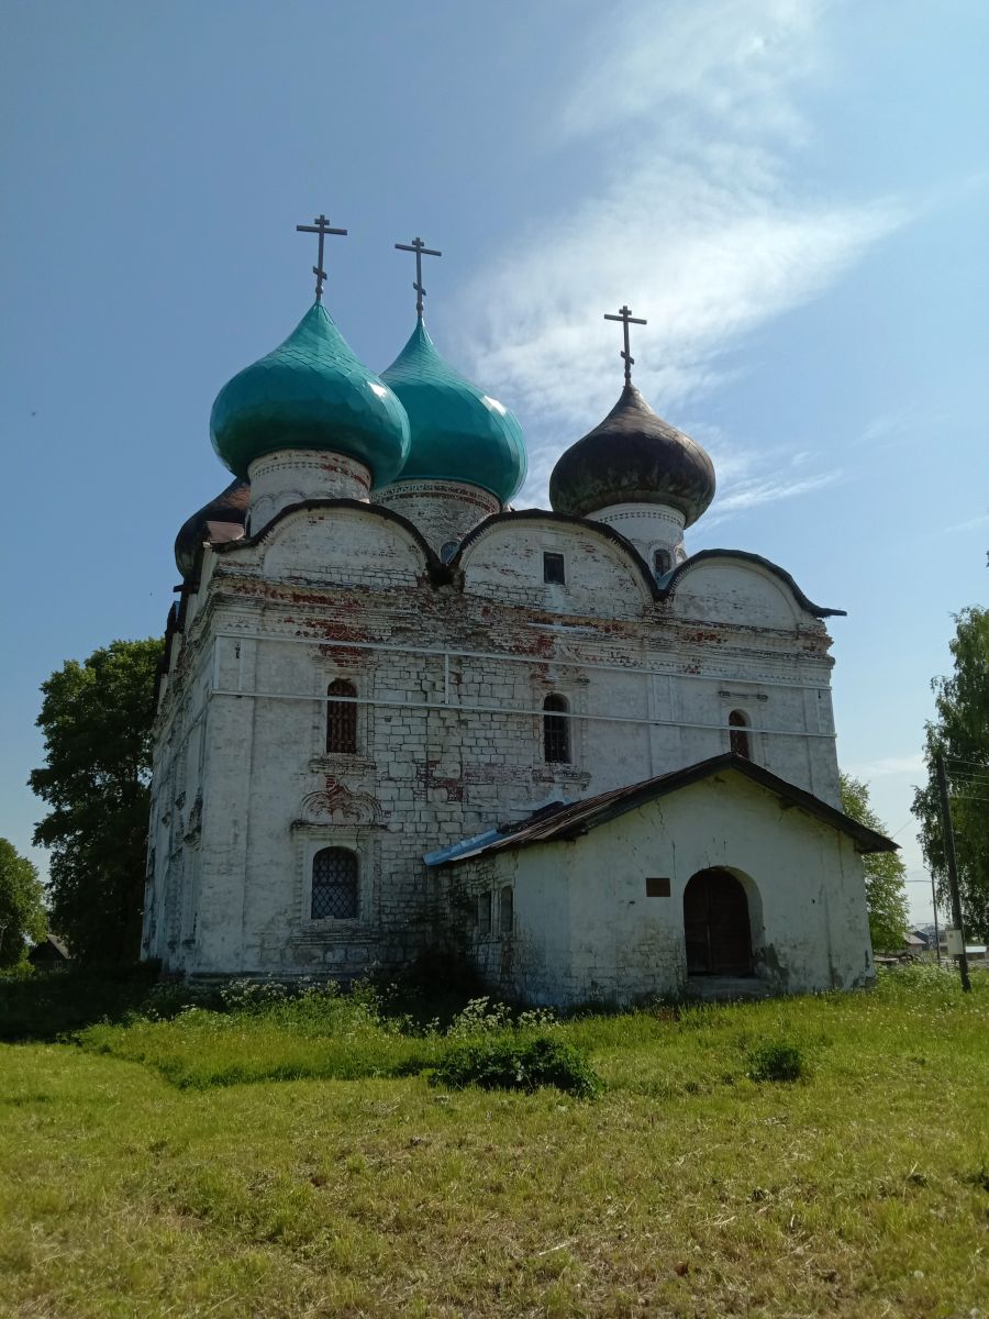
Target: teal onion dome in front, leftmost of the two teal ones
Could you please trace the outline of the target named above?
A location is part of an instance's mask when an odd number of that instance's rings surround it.
[[[315,448],[345,454],[390,481],[409,452],[409,418],[365,367],[320,302],[274,352],[239,372],[216,396],[212,446],[237,476],[264,454]]]

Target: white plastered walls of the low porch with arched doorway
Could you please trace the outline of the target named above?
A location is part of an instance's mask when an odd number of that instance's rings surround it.
[[[529,1002],[629,1002],[683,995],[683,893],[712,867],[746,889],[756,976],[766,989],[852,988],[874,973],[861,860],[852,842],[727,772],[629,811],[583,838],[444,868],[460,938],[493,992]],[[649,897],[646,878],[667,878]],[[498,902],[513,890],[513,929]],[[493,896],[489,934],[473,919]],[[717,977],[705,977],[715,989]],[[737,992],[731,981],[728,991]]]

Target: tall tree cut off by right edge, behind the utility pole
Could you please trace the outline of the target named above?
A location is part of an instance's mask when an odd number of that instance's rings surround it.
[[[926,725],[927,783],[916,789],[911,809],[938,898],[949,909],[935,778],[936,757],[944,756],[965,934],[989,939],[989,609],[963,609],[955,624],[955,673],[931,682],[935,718]]]

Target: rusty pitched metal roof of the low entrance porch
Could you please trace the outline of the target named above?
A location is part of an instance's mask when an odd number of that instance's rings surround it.
[[[496,830],[476,835],[463,843],[456,843],[454,847],[443,848],[439,852],[430,852],[425,857],[425,861],[427,865],[450,865],[489,852],[580,838],[592,828],[597,828],[599,824],[605,824],[608,820],[616,819],[618,815],[634,811],[640,806],[658,801],[661,797],[667,797],[670,793],[679,791],[679,789],[688,787],[691,783],[698,783],[704,778],[713,778],[725,770],[742,774],[742,777],[757,783],[760,787],[774,793],[781,803],[799,806],[808,815],[814,815],[824,824],[829,824],[841,834],[847,834],[854,840],[860,852],[898,851],[897,844],[891,839],[866,828],[864,824],[853,820],[851,815],[845,815],[833,806],[828,806],[827,802],[823,802],[812,793],[798,787],[795,783],[789,783],[785,778],[779,778],[778,774],[770,773],[750,760],[734,756],[732,752],[725,752],[721,756],[712,756],[709,760],[698,761],[696,765],[688,765],[686,769],[676,769],[670,774],[659,774],[658,778],[647,778],[640,783],[629,783],[626,787],[616,787],[609,793],[600,793],[597,797],[588,797],[583,802],[558,802],[553,806],[543,806],[516,824],[498,826]]]

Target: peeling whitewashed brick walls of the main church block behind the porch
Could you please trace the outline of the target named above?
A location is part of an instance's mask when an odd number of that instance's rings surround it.
[[[543,582],[546,551],[564,554],[564,586]],[[756,760],[836,801],[829,644],[744,562],[657,601],[591,522],[496,520],[447,582],[369,505],[207,549],[156,723],[145,956],[195,973],[400,967],[448,925],[423,852],[727,751],[733,708]],[[326,752],[336,678],[359,692],[355,754]],[[568,764],[543,761],[551,692],[574,716]],[[356,921],[309,919],[311,859],[331,845],[357,853]]]

